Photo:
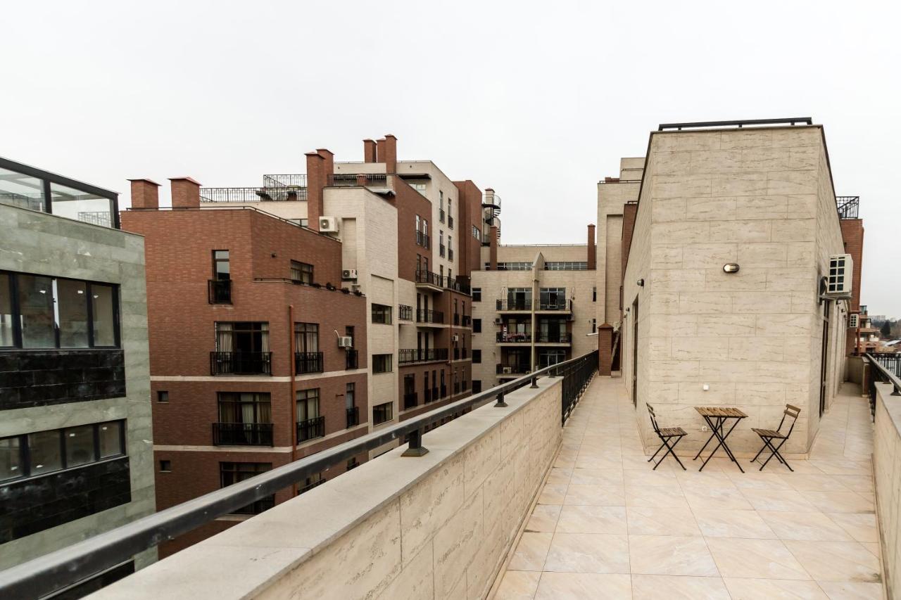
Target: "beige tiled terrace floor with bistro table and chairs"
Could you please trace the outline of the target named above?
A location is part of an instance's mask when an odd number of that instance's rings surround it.
[[[597,377],[496,600],[880,598],[869,405],[842,391],[795,473],[652,471],[622,381]]]

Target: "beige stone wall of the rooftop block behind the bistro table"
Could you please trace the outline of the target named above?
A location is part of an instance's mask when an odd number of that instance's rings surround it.
[[[685,451],[708,435],[695,405],[733,405],[750,415],[733,432],[733,450],[756,452],[751,427],[775,427],[790,403],[802,413],[786,449],[805,452],[819,423],[818,278],[841,252],[820,127],[655,132],[623,277],[624,305],[636,297],[640,305],[645,439],[645,402],[660,405],[661,423],[686,429]],[[730,262],[740,272],[724,273]],[[842,305],[829,311],[827,406],[843,378],[844,346]],[[627,319],[631,368],[630,327]]]

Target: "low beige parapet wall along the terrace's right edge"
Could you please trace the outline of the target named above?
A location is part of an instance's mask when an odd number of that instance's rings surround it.
[[[901,577],[901,396],[891,395],[889,384],[876,389],[873,471],[884,586],[892,590]]]

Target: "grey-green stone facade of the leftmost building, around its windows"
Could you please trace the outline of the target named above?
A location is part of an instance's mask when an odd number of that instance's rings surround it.
[[[125,419],[132,502],[0,546],[0,568],[57,550],[155,510],[150,420],[147,294],[141,236],[52,214],[0,205],[0,269],[118,284],[125,354],[123,398],[4,411],[0,438],[86,423]],[[156,559],[141,553],[135,566]]]

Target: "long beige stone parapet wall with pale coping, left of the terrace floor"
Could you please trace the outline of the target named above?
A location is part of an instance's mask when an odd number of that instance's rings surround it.
[[[108,586],[103,598],[483,598],[560,446],[560,379]]]

